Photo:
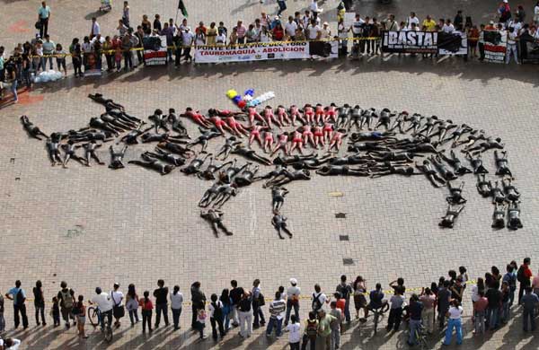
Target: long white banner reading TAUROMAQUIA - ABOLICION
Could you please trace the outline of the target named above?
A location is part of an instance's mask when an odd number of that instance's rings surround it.
[[[337,57],[338,41],[287,41],[247,45],[199,46],[195,62],[248,62],[272,59],[304,59],[311,56]]]

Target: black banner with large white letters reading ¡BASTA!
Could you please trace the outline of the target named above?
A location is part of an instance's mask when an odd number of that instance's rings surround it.
[[[436,54],[437,31],[384,31],[382,51],[399,54]]]

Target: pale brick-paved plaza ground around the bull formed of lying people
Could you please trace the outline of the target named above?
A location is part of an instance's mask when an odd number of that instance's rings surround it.
[[[175,14],[175,1],[130,1],[132,22],[142,13]],[[306,1],[288,2],[289,11],[305,8]],[[332,23],[327,1],[326,18]],[[433,6],[429,1],[393,2],[386,9],[373,1],[358,2],[361,13],[408,13],[411,6],[422,19],[427,11],[438,16],[453,16],[456,7],[473,7],[477,18],[493,16],[492,4],[480,1],[446,2]],[[527,1],[528,13],[531,7]],[[51,2],[54,16],[50,32],[54,40],[67,44],[78,34],[89,31],[92,12],[98,2],[65,0]],[[112,13],[99,18],[102,31],[112,32],[119,18],[119,4]],[[243,17],[250,22],[262,9],[274,13],[273,1],[186,1],[190,22],[233,20]],[[217,4],[217,5],[216,5]],[[0,0],[0,44],[6,48],[30,37],[38,1]],[[363,11],[364,10],[364,11]],[[472,9],[471,9],[472,10]],[[444,13],[437,13],[442,11]],[[8,14],[7,18],[4,13]],[[5,18],[5,20],[4,20]],[[61,29],[65,29],[58,34]],[[428,286],[449,269],[468,267],[471,278],[482,276],[490,266],[500,268],[511,259],[530,256],[536,272],[539,256],[539,195],[537,185],[536,123],[539,77],[536,66],[481,65],[450,58],[440,62],[411,57],[369,57],[361,61],[290,61],[227,66],[181,66],[138,69],[128,74],[103,76],[101,79],[68,78],[47,86],[37,86],[21,96],[21,103],[0,109],[0,291],[5,293],[15,279],[31,293],[40,279],[49,300],[66,280],[86,298],[96,285],[108,290],[114,282],[134,283],[137,291],[153,290],[158,278],[166,284],[179,284],[189,299],[189,286],[199,280],[207,295],[220,293],[237,279],[249,287],[261,279],[262,292],[270,296],[278,285],[287,286],[296,277],[305,295],[319,283],[331,293],[339,276],[362,275],[367,286],[384,285],[404,276],[408,287]],[[438,228],[439,217],[446,211],[446,189],[429,186],[426,179],[385,177],[361,179],[346,177],[298,181],[287,188],[283,208],[293,240],[278,240],[270,224],[270,191],[257,183],[240,191],[225,205],[225,223],[232,237],[216,239],[208,223],[199,217],[197,202],[209,182],[186,177],[179,171],[159,176],[135,166],[122,171],[106,167],[81,167],[75,162],[69,169],[50,167],[44,143],[23,132],[19,117],[28,115],[46,132],[84,127],[89,118],[102,113],[102,106],[86,98],[101,92],[126,106],[129,113],[146,118],[154,109],[192,106],[232,108],[226,90],[273,91],[271,104],[335,102],[360,104],[424,115],[451,118],[486,130],[502,138],[509,153],[515,184],[522,193],[524,229],[517,232],[490,229],[492,206],[479,196],[472,175],[464,177],[464,212],[453,230]],[[188,124],[191,135],[196,127]],[[215,150],[221,141],[210,144]],[[107,162],[109,154],[100,155]],[[127,160],[135,159],[140,148],[128,150]],[[485,163],[494,170],[489,156]],[[494,179],[494,175],[490,174]],[[342,196],[335,197],[335,193]],[[345,218],[335,214],[345,213]],[[349,241],[340,241],[348,236]],[[351,258],[353,265],[343,265]],[[467,292],[468,294],[468,292]],[[30,302],[31,304],[31,302]],[[49,309],[49,304],[47,309]],[[301,304],[302,316],[309,302]],[[524,334],[519,311],[515,322],[484,337],[473,337],[470,321],[471,302],[466,296],[465,349],[535,349],[537,333]],[[266,314],[267,307],[265,310]],[[33,307],[29,307],[31,328],[13,332],[13,311],[6,301],[8,335],[20,337],[24,349],[99,349],[102,337],[88,326],[90,338],[80,342],[75,329],[35,328]],[[128,319],[115,332],[110,349],[175,348],[247,348],[282,349],[286,337],[274,342],[261,331],[241,342],[231,332],[221,343],[198,343],[188,326],[190,307],[184,308],[179,332],[158,328],[152,336],[141,335],[140,326],[128,328]],[[50,323],[52,323],[50,321]],[[406,348],[404,334],[373,337],[372,322],[352,324],[343,336],[343,349]],[[207,331],[210,331],[208,328]],[[433,337],[433,348],[440,347]]]

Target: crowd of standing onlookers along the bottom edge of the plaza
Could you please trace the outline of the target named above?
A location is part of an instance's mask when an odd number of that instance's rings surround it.
[[[534,276],[530,265],[530,258],[525,258],[519,267],[516,261],[511,261],[505,273],[493,266],[484,276],[477,277],[474,283],[471,283],[466,267],[458,267],[448,271],[447,276],[440,276],[437,281],[421,288],[420,293],[407,290],[402,277],[388,284],[388,292],[383,290],[380,283],[369,291],[367,281],[362,276],[357,276],[350,283],[343,275],[332,293],[324,293],[320,284],[314,285],[313,293],[302,293],[296,278],[290,278],[287,288],[281,285],[275,292],[265,290],[264,293],[270,296],[266,297],[262,293],[261,280],[255,279],[250,287],[242,287],[232,280],[229,287],[207,297],[202,284],[197,281],[190,285],[190,329],[199,334],[200,340],[204,340],[208,337],[205,329],[209,323],[212,338],[218,340],[233,328],[239,329],[239,337],[246,338],[252,336],[253,329],[265,327],[267,337],[281,337],[287,332],[291,349],[299,349],[300,344],[302,349],[306,346],[314,349],[317,343],[322,343],[324,349],[333,350],[339,348],[340,335],[350,328],[352,322],[358,322],[358,327],[362,327],[369,313],[383,312],[384,307],[388,307],[387,332],[399,331],[402,324],[407,324],[410,346],[417,344],[419,331],[425,331],[429,336],[437,330],[445,333],[445,345],[451,344],[454,334],[456,344],[460,345],[463,343],[463,305],[464,300],[468,300],[465,293],[471,285],[469,293],[472,305],[468,305],[467,310],[471,310],[475,335],[508,323],[515,311],[514,302],[522,308],[522,329],[525,332],[535,331],[539,274]],[[84,332],[87,317],[84,296],[76,295],[65,281],[51,299],[46,298],[41,281],[35,283],[32,294],[37,326],[47,325],[47,299],[51,302],[49,314],[53,327],[59,327],[64,322],[67,329],[76,326],[81,339],[88,337]],[[5,297],[13,301],[14,328],[21,325],[23,329],[29,328],[27,293],[22,282],[16,281]],[[146,290],[139,295],[136,286],[128,284],[127,293],[123,293],[121,285],[115,283],[108,292],[96,287],[95,293],[87,299],[88,304],[100,311],[102,328],[107,324],[112,326],[113,320],[113,327],[119,328],[121,319],[128,314],[131,327],[142,320],[143,333],[153,332],[162,325],[162,320],[164,327],[180,329],[182,309],[188,303],[179,285],[169,290],[163,279],[157,281],[157,288],[153,292]],[[304,316],[300,312],[300,301],[303,299],[309,299],[311,305],[302,324]],[[169,319],[169,309],[172,321]],[[5,329],[2,296],[0,311],[1,334]]]

